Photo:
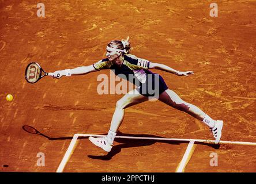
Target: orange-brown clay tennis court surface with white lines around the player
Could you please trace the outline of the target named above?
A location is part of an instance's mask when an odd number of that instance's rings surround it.
[[[0,0],[0,171],[256,172],[256,1],[214,1],[218,17],[209,15],[212,2],[45,1],[45,17],[37,17],[37,1]],[[201,121],[147,101],[126,109],[107,153],[88,135],[106,135],[123,96],[97,93],[97,76],[109,70],[25,81],[31,62],[47,72],[89,66],[105,58],[109,41],[127,36],[133,55],[194,71],[152,70],[186,102],[224,121],[220,145]],[[212,153],[217,166],[210,166]]]

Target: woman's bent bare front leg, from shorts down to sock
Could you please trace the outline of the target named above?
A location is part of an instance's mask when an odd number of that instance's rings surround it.
[[[122,124],[123,117],[125,116],[125,109],[135,104],[140,104],[148,100],[148,97],[144,97],[137,90],[131,90],[124,95],[118,102],[116,102],[115,112],[112,117],[110,130],[117,132]]]

